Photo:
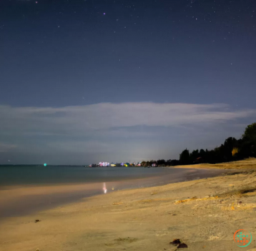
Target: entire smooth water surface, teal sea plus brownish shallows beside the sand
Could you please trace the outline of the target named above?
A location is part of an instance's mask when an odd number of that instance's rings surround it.
[[[225,172],[228,170],[2,165],[0,219],[36,214],[41,210],[104,194],[104,187],[107,189],[105,192],[109,193],[214,177]]]

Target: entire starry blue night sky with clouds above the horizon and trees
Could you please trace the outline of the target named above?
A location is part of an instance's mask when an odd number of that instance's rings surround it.
[[[255,0],[2,0],[0,164],[179,159],[256,122]]]

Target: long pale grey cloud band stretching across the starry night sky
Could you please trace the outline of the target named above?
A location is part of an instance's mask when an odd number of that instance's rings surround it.
[[[227,104],[101,103],[67,107],[0,106],[0,134],[87,135],[122,127],[216,124],[255,115]]]

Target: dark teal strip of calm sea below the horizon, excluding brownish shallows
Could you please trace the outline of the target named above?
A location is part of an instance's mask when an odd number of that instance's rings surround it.
[[[144,167],[0,166],[0,185],[41,185],[110,182],[185,173],[185,169]]]

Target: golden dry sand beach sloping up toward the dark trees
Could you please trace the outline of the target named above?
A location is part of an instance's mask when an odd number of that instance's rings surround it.
[[[234,163],[217,168],[229,165],[239,169],[241,165],[242,169],[244,163],[245,169],[256,169],[255,160]],[[119,190],[12,217],[1,222],[0,250],[176,250],[169,244],[173,239],[187,244],[184,250],[241,250],[233,240],[239,229],[252,234],[252,243],[242,250],[256,250],[255,182],[256,172],[247,170],[161,187]],[[35,223],[36,219],[40,222]]]

